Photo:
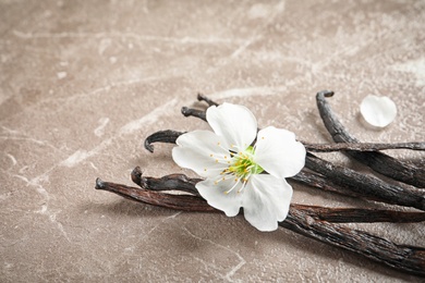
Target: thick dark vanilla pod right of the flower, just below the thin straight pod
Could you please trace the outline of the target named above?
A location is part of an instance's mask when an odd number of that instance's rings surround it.
[[[385,200],[387,204],[425,210],[425,197],[404,187],[388,184],[377,177],[335,165],[312,153],[305,158],[305,167],[332,180],[356,194]]]

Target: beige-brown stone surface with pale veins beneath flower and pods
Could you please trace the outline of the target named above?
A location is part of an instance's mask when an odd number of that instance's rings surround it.
[[[97,176],[130,185],[136,165],[192,174],[172,162],[172,145],[151,155],[142,142],[207,128],[180,114],[199,107],[197,91],[326,143],[315,93],[332,89],[362,140],[425,140],[425,1],[0,0],[0,19],[1,282],[420,281],[290,231],[257,232],[243,217],[94,186]],[[382,131],[359,115],[369,94],[398,106]],[[293,186],[294,202],[371,206]],[[423,223],[351,226],[425,246]]]

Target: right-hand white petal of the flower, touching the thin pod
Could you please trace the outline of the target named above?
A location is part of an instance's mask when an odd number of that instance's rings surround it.
[[[254,162],[278,177],[298,174],[305,163],[305,147],[295,134],[268,126],[258,132]]]

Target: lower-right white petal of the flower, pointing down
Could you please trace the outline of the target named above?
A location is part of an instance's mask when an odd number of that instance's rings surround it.
[[[292,187],[284,179],[269,174],[253,175],[243,195],[246,221],[259,231],[275,231],[289,211]]]

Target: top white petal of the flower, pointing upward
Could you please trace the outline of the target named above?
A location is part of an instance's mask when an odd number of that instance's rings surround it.
[[[239,150],[246,149],[257,133],[257,120],[243,106],[212,106],[207,109],[207,121],[217,135],[224,137],[229,145],[238,146]]]

